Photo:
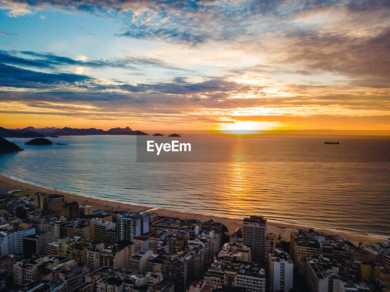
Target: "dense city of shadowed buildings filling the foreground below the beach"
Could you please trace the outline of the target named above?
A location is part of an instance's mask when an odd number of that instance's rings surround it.
[[[390,241],[267,232],[213,219],[95,210],[63,195],[0,189],[0,291],[390,291]],[[238,219],[239,220],[239,219]]]

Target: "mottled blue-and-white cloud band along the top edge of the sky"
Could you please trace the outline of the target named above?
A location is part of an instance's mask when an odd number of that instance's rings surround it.
[[[289,35],[291,30],[310,34],[326,31],[332,20],[341,19],[338,28],[347,31],[351,20],[367,27],[386,23],[389,0],[4,0],[4,9],[56,7],[67,11],[105,14],[116,18],[115,34],[133,39],[164,41],[186,46],[211,42],[246,45]],[[327,19],[327,21],[326,21]],[[350,23],[348,23],[350,21]],[[378,26],[379,24],[379,26]],[[345,26],[346,25],[346,26]],[[384,27],[382,27],[383,29]],[[324,30],[325,29],[325,30]],[[329,29],[328,29],[329,30]],[[329,30],[332,33],[332,30]],[[291,37],[292,35],[290,35]],[[323,39],[326,42],[326,39]]]

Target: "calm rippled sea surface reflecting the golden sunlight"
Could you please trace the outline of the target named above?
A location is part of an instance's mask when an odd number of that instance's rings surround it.
[[[207,153],[195,162],[137,162],[135,136],[49,139],[68,145],[8,138],[25,150],[0,154],[0,172],[118,202],[390,236],[390,136],[184,135]]]

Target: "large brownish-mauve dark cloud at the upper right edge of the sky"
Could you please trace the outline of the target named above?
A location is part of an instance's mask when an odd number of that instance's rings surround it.
[[[311,73],[324,71],[353,78],[367,87],[390,84],[390,27],[360,37],[298,30],[287,36],[294,44],[284,62]]]

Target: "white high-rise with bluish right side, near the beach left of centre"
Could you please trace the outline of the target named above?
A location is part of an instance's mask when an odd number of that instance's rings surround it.
[[[117,234],[118,241],[131,241],[134,237],[149,232],[149,215],[147,214],[118,214]]]

